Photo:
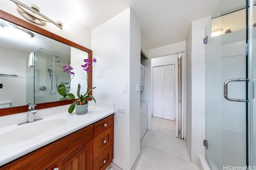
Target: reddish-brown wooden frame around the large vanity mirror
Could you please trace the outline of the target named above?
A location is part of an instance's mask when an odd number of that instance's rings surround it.
[[[86,47],[78,45],[78,44],[76,44],[72,41],[69,41],[68,39],[60,37],[60,36],[58,36],[54,33],[51,33],[50,31],[42,29],[41,27],[38,27],[38,26],[36,26],[32,23],[29,23],[25,20],[22,20],[22,19],[20,19],[16,16],[13,16],[13,15],[11,15],[7,12],[4,12],[2,10],[0,10],[0,18],[2,18],[3,20],[9,21],[11,23],[14,23],[16,25],[19,25],[21,27],[24,27],[26,29],[29,29],[31,31],[34,31],[36,33],[39,33],[41,35],[44,35],[48,38],[51,38],[51,39],[54,39],[54,40],[59,41],[61,43],[64,43],[66,45],[70,45],[71,47],[74,47],[76,49],[80,49],[82,51],[85,51],[86,53],[88,53],[89,59],[92,60],[92,50],[87,49]],[[91,72],[88,74],[89,89],[92,88],[92,66],[90,67],[90,69],[91,69]],[[89,93],[89,95],[92,95],[92,91]],[[49,108],[49,107],[56,107],[56,106],[62,106],[62,105],[66,105],[66,104],[72,104],[72,102],[74,102],[75,100],[76,99],[37,104],[36,109],[45,109],[45,108]],[[92,99],[88,99],[88,100],[92,100]],[[24,102],[26,102],[26,101],[24,101]],[[26,105],[25,106],[10,107],[10,108],[3,108],[3,109],[0,109],[0,116],[11,115],[11,114],[15,114],[15,113],[22,113],[22,112],[26,112],[27,110],[28,110],[28,106],[26,106]]]

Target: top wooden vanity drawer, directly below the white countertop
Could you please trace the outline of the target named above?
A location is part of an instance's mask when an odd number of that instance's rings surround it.
[[[93,124],[93,136],[96,137],[100,133],[104,132],[106,129],[114,125],[114,115],[110,115],[100,121]]]

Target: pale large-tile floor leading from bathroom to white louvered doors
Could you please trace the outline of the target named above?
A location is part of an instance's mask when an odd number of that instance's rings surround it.
[[[176,122],[152,117],[151,131],[141,144],[141,158],[135,170],[199,170],[190,162],[184,140],[176,138]]]

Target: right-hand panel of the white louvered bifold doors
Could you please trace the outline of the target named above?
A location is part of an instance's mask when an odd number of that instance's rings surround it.
[[[174,121],[174,64],[163,67],[163,118]]]

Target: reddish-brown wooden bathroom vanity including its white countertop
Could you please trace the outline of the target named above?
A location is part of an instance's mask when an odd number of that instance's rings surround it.
[[[66,112],[44,118],[44,121],[60,119],[56,117],[68,119],[68,123],[62,126],[63,131],[57,128],[59,133],[56,133],[57,131],[54,129],[47,132],[48,139],[46,139],[46,134],[42,134],[24,142],[20,141],[10,145],[1,143],[4,146],[0,146],[0,169],[105,170],[113,159],[114,111],[94,106],[89,107],[89,110],[85,115],[74,113],[69,115]],[[84,127],[81,128],[81,126]],[[1,127],[1,129],[3,128]],[[74,132],[70,133],[70,131]],[[8,131],[6,132],[8,133]],[[70,134],[48,143],[55,139],[54,136],[51,136],[54,133],[56,133],[57,138],[60,135],[65,135],[65,133]],[[3,133],[1,132],[1,134]],[[40,139],[43,141],[36,141]],[[43,147],[36,149],[35,145],[38,147],[42,145],[41,143],[48,144],[43,144]],[[24,144],[26,145],[24,146]],[[20,150],[14,150],[17,147],[21,147]],[[16,156],[17,154],[19,156],[20,152],[26,153],[31,149],[34,151],[16,159],[13,156],[15,152]],[[2,164],[6,161],[10,162]]]

